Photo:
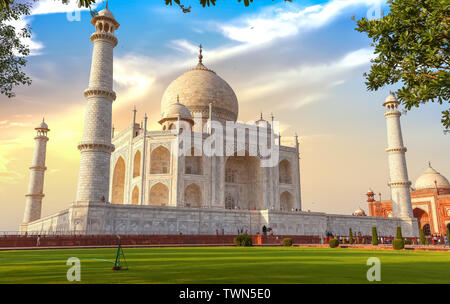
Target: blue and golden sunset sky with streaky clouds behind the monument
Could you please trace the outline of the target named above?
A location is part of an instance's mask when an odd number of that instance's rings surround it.
[[[300,139],[302,209],[351,214],[367,211],[372,188],[389,199],[386,126],[382,107],[390,90],[368,91],[363,73],[373,48],[355,31],[361,17],[388,12],[382,0],[217,1],[191,13],[163,0],[110,0],[121,24],[114,58],[113,122],[116,131],[149,116],[159,130],[162,94],[179,75],[203,63],[225,79],[239,101],[239,120],[273,113],[283,139]],[[98,9],[104,8],[98,2]],[[87,10],[41,0],[17,22],[32,27],[26,72],[33,83],[0,96],[0,231],[17,231],[23,218],[34,127],[49,125],[42,215],[66,209],[76,196],[81,140],[94,28]],[[428,161],[450,178],[450,135],[444,135],[439,104],[402,115],[409,178],[414,183]]]

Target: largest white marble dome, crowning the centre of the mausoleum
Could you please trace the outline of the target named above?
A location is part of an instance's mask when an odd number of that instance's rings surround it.
[[[192,70],[175,79],[166,89],[161,100],[161,114],[166,113],[179,95],[191,115],[201,113],[209,118],[209,104],[212,104],[212,119],[236,121],[239,105],[230,85],[207,69],[201,62]]]

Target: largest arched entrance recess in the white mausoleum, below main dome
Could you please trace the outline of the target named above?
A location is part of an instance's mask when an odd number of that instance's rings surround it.
[[[259,159],[254,156],[228,157],[225,164],[225,198],[229,207],[263,209],[263,186]]]

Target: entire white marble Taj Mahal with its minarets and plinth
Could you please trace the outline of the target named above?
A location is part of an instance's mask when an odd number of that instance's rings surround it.
[[[230,85],[206,67],[200,47],[196,65],[176,78],[161,98],[159,130],[148,118],[116,132],[112,122],[113,50],[119,23],[108,7],[91,20],[95,32],[86,98],[76,200],[42,216],[50,129],[36,127],[35,150],[23,233],[237,234],[418,236],[413,216],[399,102],[386,109],[392,216],[353,216],[302,210],[297,136],[282,145],[277,123],[262,115],[238,122],[239,102]],[[120,96],[118,96],[120,98]],[[74,148],[76,143],[74,143]],[[63,209],[65,208],[65,209]]]

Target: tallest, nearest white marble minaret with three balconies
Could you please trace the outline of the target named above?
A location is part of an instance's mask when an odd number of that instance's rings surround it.
[[[89,87],[84,92],[87,99],[83,140],[78,145],[81,152],[78,176],[77,203],[108,201],[111,152],[113,91],[113,50],[117,45],[114,31],[119,23],[106,8],[92,18],[95,32]]]

